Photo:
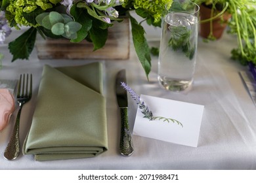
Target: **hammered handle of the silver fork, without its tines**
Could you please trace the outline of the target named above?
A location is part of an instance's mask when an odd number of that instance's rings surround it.
[[[8,160],[16,159],[18,155],[20,154],[20,113],[22,110],[22,106],[20,106],[16,118],[16,122],[14,124],[14,129],[12,131],[12,135],[10,138],[9,143],[7,144],[7,147],[5,148],[4,156]]]

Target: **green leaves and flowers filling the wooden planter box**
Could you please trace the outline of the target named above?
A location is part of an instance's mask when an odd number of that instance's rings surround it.
[[[163,12],[172,3],[173,0],[0,0],[0,12],[5,12],[4,18],[10,27],[31,27],[10,42],[12,61],[29,59],[37,33],[44,38],[66,38],[71,42],[87,40],[93,42],[93,50],[98,50],[108,39],[108,27],[113,26],[114,21],[121,22],[122,16],[128,16],[133,44],[148,78],[151,71],[150,48],[144,28],[129,12],[135,10],[142,17],[142,22],[160,26]]]

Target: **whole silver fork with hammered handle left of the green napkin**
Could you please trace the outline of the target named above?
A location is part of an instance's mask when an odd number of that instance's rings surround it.
[[[25,82],[26,80],[26,82]],[[12,135],[9,143],[7,144],[7,148],[5,149],[4,156],[6,159],[12,160],[16,159],[20,154],[20,113],[22,111],[22,107],[25,103],[30,101],[32,97],[32,75],[25,74],[20,75],[20,81],[18,82],[18,91],[17,91],[17,101],[19,105],[18,114],[16,117],[16,122],[14,124],[14,129],[12,131]]]

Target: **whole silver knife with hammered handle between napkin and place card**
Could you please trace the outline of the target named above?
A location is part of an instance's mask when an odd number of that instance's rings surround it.
[[[133,139],[131,138],[128,121],[127,92],[121,86],[121,82],[126,82],[125,69],[119,71],[116,75],[116,97],[121,116],[119,152],[123,156],[130,156],[131,154],[133,154]]]

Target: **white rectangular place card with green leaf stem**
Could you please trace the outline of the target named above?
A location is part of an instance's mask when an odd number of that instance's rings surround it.
[[[153,120],[143,118],[137,109],[133,135],[172,142],[186,146],[198,146],[203,116],[203,105],[140,95],[153,113]]]

